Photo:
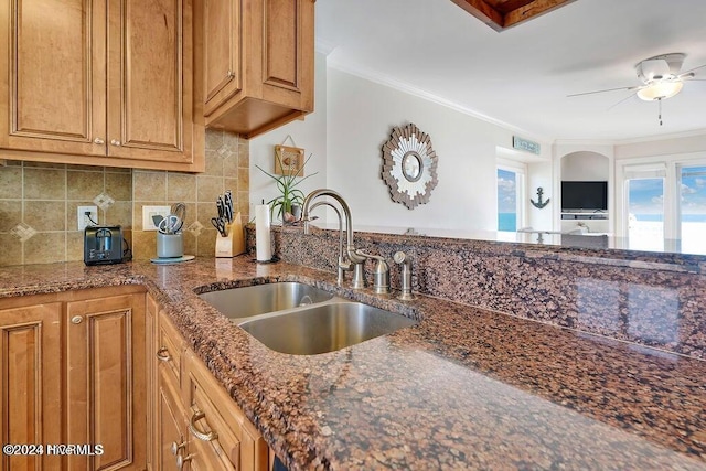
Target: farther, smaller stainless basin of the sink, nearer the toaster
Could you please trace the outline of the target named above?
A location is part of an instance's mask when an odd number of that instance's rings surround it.
[[[328,301],[333,295],[300,282],[274,282],[203,292],[201,299],[228,319],[242,319]]]

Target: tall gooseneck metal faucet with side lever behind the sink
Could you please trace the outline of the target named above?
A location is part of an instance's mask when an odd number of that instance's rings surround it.
[[[389,292],[389,267],[383,257],[366,254],[363,250],[357,250],[353,245],[353,223],[351,222],[351,208],[349,207],[343,196],[333,190],[319,189],[314,190],[307,195],[301,208],[301,220],[304,223],[304,234],[309,234],[309,223],[312,221],[310,217],[311,211],[319,204],[312,204],[312,202],[320,196],[331,196],[341,205],[343,210],[343,217],[345,218],[345,257],[342,251],[339,253],[339,282],[343,281],[343,271],[353,270],[353,280],[351,287],[353,289],[365,288],[365,260],[374,258],[377,260],[375,268],[375,292],[384,293]],[[330,204],[329,204],[330,205]],[[339,213],[339,231],[342,231],[341,214]],[[341,238],[341,247],[342,247]]]

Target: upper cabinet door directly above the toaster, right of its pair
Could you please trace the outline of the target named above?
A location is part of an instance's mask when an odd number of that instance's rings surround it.
[[[108,156],[191,163],[191,0],[108,3]]]

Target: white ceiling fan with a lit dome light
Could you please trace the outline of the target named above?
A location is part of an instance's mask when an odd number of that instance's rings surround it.
[[[694,67],[689,71],[680,74],[682,65],[684,64],[684,53],[670,53],[655,55],[654,57],[640,61],[635,65],[635,74],[642,82],[642,85],[634,85],[631,87],[618,87],[607,88],[602,90],[585,92],[579,94],[567,95],[567,97],[593,95],[606,92],[628,90],[634,92],[627,98],[618,101],[611,108],[620,105],[621,103],[632,98],[634,95],[644,101],[659,101],[660,103],[660,126],[662,126],[662,100],[672,98],[678,94],[684,87],[686,81],[703,81],[704,78],[696,78],[695,71],[706,67],[706,64]]]

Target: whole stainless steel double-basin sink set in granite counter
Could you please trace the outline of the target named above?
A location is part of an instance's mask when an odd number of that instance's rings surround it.
[[[417,322],[300,282],[274,282],[199,295],[267,347],[315,355]]]

